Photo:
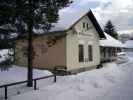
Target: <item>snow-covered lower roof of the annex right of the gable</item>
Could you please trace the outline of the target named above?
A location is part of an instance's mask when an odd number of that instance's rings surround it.
[[[112,36],[105,33],[106,39],[100,40],[100,46],[103,47],[123,47],[123,44],[119,41],[113,38]]]

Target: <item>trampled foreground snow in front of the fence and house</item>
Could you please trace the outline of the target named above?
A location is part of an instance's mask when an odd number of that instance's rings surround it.
[[[114,62],[105,63],[101,69],[60,76],[56,83],[53,83],[52,79],[42,80],[38,90],[26,88],[25,92],[19,95],[10,95],[8,100],[132,100],[132,65],[133,57],[130,56],[126,63],[119,65]],[[19,72],[14,73],[18,79],[19,77],[21,79],[22,75],[17,75]],[[0,73],[0,80],[1,77]],[[18,90],[22,87],[19,86]]]

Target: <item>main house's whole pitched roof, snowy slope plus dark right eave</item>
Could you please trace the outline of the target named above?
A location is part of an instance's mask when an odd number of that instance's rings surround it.
[[[66,31],[69,30],[73,25],[75,25],[80,19],[82,19],[84,16],[88,16],[88,18],[91,20],[92,24],[94,25],[96,31],[98,32],[100,38],[105,38],[105,35],[103,34],[103,31],[98,24],[95,16],[93,15],[92,11],[88,10],[75,10],[75,11],[65,11],[65,8],[63,10],[59,11],[59,20],[57,23],[53,23],[52,27],[48,32],[46,33],[52,33],[52,32],[58,32],[58,31]],[[44,33],[43,30],[34,30],[35,33]]]

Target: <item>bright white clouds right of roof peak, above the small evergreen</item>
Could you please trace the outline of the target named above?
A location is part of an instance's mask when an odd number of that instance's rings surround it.
[[[110,0],[101,2],[100,6],[93,9],[97,19],[103,26],[107,20],[112,20],[117,30],[133,28],[133,1],[132,0]]]

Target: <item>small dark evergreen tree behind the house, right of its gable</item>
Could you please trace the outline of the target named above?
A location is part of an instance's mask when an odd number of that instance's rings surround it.
[[[116,32],[115,26],[112,24],[112,22],[109,20],[106,25],[104,26],[104,32],[111,35],[112,37],[118,39],[118,34]]]

